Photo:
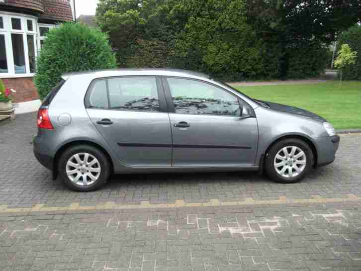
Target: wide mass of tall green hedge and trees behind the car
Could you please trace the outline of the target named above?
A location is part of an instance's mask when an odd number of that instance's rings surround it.
[[[121,67],[181,68],[227,81],[317,77],[330,57],[324,44],[359,21],[358,0],[139,2],[99,0],[97,23]]]

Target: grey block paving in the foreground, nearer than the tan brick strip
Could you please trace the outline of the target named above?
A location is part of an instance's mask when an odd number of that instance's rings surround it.
[[[360,203],[0,216],[0,270],[360,271]]]

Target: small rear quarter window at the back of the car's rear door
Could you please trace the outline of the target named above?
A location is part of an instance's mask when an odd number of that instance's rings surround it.
[[[87,94],[86,106],[88,108],[108,108],[106,80],[94,81]]]

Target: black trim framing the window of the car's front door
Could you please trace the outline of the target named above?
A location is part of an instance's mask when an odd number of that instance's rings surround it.
[[[219,90],[223,90],[229,94],[231,94],[232,96],[234,96],[237,100],[238,100],[238,105],[240,107],[240,110],[242,110],[242,106],[241,106],[241,102],[248,105],[250,108],[252,108],[252,106],[250,106],[245,100],[243,100],[242,98],[240,98],[239,96],[237,96],[236,94],[232,93],[229,90],[226,90],[222,87],[219,87],[215,84],[212,84],[210,82],[204,81],[204,80],[200,80],[200,79],[195,79],[195,78],[188,78],[188,77],[180,77],[180,76],[162,76],[162,84],[163,84],[163,88],[165,91],[165,96],[166,96],[166,101],[167,101],[167,105],[169,108],[169,113],[171,114],[186,114],[186,115],[196,115],[196,116],[219,116],[219,117],[241,117],[241,116],[230,116],[230,115],[222,115],[222,114],[193,114],[193,113],[177,113],[176,112],[176,107],[174,106],[173,103],[173,98],[172,98],[172,92],[171,92],[171,88],[169,87],[168,84],[168,80],[167,78],[176,78],[176,79],[185,79],[185,80],[192,80],[192,81],[197,81],[197,82],[201,82],[204,84],[208,84],[212,87],[215,87]],[[252,108],[253,111],[253,108]],[[255,114],[253,114],[253,116],[255,116]],[[253,117],[252,116],[252,117]]]

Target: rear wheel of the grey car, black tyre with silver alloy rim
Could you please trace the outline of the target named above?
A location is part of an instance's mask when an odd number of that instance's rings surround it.
[[[62,153],[58,170],[61,180],[70,189],[88,192],[99,189],[106,183],[110,175],[110,163],[99,149],[90,145],[78,145]],[[68,176],[67,171],[74,174]]]

